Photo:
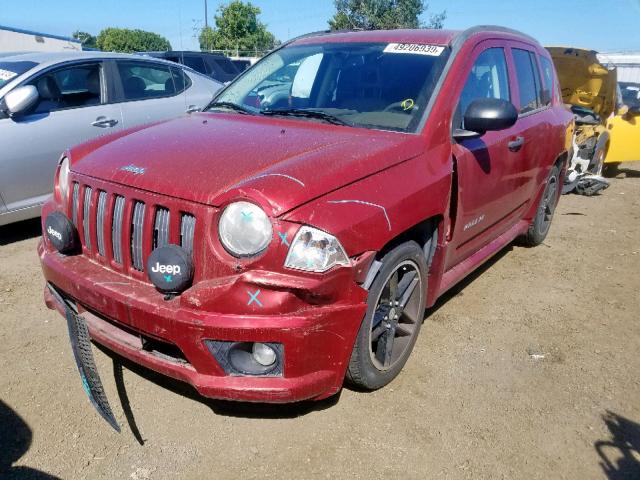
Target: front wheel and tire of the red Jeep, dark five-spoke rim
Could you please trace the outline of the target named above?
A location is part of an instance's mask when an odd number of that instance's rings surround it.
[[[422,326],[426,291],[427,262],[417,243],[403,243],[382,258],[347,369],[351,383],[375,390],[400,373]]]

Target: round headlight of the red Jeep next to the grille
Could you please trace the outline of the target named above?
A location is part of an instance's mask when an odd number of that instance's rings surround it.
[[[235,257],[249,257],[271,242],[273,228],[264,211],[249,202],[235,202],[224,209],[218,224],[220,241]]]

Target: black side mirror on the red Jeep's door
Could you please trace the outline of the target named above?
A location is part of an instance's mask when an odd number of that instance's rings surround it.
[[[511,102],[499,98],[478,98],[464,113],[464,130],[456,130],[454,138],[473,138],[486,132],[506,130],[518,120],[518,111]]]

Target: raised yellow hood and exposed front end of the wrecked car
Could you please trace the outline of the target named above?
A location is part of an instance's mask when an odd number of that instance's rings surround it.
[[[563,101],[575,118],[563,193],[594,195],[609,186],[601,174],[614,130],[608,128],[608,122],[617,113],[616,70],[602,65],[593,50],[571,47],[547,47],[547,50],[558,73]]]

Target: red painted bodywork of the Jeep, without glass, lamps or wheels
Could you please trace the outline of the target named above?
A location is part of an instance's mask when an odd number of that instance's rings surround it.
[[[447,45],[456,35],[421,30],[330,38]],[[326,39],[306,38],[299,43]],[[565,149],[571,115],[558,103],[522,117],[509,130],[487,133],[475,144],[452,140],[452,111],[482,42],[504,45],[507,51],[510,45],[525,42],[527,48],[547,56],[539,45],[514,34],[473,35],[456,56],[418,134],[203,113],[72,149],[72,180],[94,188],[91,218],[98,189],[145,202],[147,222],[152,221],[156,205],[170,209],[172,243],[179,240],[177,214],[197,217],[194,284],[165,301],[145,274],[129,266],[127,249],[123,265],[118,265],[95,250],[64,257],[44,241],[39,254],[46,280],[75,299],[81,310],[99,313],[87,314],[95,341],[189,382],[203,395],[285,402],[337,392],[366,310],[367,292],[360,284],[375,252],[412,226],[436,218],[438,247],[427,292],[427,303],[432,305],[438,295],[526,229],[548,172]],[[513,71],[511,61],[509,68]],[[515,82],[511,91],[517,101]],[[518,153],[509,152],[506,143],[517,135],[526,137],[525,146]],[[477,159],[476,150],[482,147],[478,142],[489,152],[490,173]],[[122,171],[127,165],[146,171],[144,175]],[[273,221],[270,246],[251,259],[229,255],[217,236],[222,209],[239,199],[258,203]],[[107,211],[111,208],[108,205]],[[130,209],[128,203],[125,216]],[[45,205],[43,218],[53,210],[69,215],[70,205],[52,200]],[[483,220],[474,228],[464,229],[480,216]],[[109,223],[110,215],[107,219]],[[353,259],[352,266],[325,274],[284,268],[288,246],[277,232],[291,241],[301,224],[335,235]],[[97,227],[89,225],[93,245]],[[110,224],[105,227],[110,231]],[[151,252],[149,230],[144,237],[145,258]],[[126,241],[130,227],[122,235]],[[105,240],[110,251],[110,235]],[[248,292],[257,289],[262,307],[248,304]],[[46,297],[51,308],[58,308]],[[189,364],[168,362],[141,350],[127,340],[125,330],[178,346]],[[227,376],[204,346],[205,339],[281,342],[284,375]]]

